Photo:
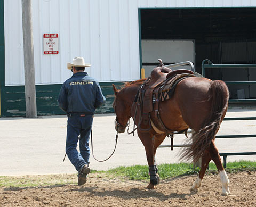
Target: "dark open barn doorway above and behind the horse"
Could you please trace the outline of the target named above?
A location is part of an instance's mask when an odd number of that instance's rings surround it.
[[[195,68],[214,64],[256,63],[256,8],[140,9],[141,40],[195,40]],[[161,57],[159,57],[161,58]],[[256,81],[256,68],[206,69],[205,77]],[[230,98],[256,97],[256,86],[229,86]],[[238,90],[239,93],[238,93]],[[242,93],[242,94],[243,94]]]

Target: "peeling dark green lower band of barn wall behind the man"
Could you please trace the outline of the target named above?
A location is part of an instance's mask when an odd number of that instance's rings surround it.
[[[117,88],[123,82],[115,82]],[[106,103],[97,109],[96,113],[113,113],[113,101],[115,94],[111,82],[100,83],[102,93],[106,97]],[[60,115],[65,114],[58,106],[58,95],[61,84],[37,85],[36,105],[37,115]],[[1,87],[1,115],[2,117],[26,116],[25,87],[24,86],[3,86]]]

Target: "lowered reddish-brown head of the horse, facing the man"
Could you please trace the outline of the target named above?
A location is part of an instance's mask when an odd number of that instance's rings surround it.
[[[113,108],[116,114],[115,128],[118,133],[124,133],[131,117],[131,104],[129,104],[129,97],[124,93],[124,90],[117,90],[115,85],[112,85],[116,96],[113,103]]]

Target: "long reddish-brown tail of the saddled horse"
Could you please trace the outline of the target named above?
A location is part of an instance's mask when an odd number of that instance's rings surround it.
[[[211,101],[211,113],[204,121],[203,126],[198,132],[192,134],[193,143],[185,148],[181,154],[182,160],[190,160],[196,162],[204,153],[204,150],[210,146],[217,131],[220,128],[223,114],[228,107],[229,91],[225,82],[214,80],[209,88]]]

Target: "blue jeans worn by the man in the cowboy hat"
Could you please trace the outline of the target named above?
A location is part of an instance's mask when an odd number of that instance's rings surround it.
[[[85,164],[89,164],[89,139],[92,130],[92,121],[93,115],[68,117],[66,153],[78,172]],[[78,140],[80,153],[77,151]]]

